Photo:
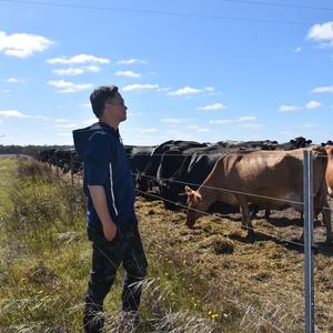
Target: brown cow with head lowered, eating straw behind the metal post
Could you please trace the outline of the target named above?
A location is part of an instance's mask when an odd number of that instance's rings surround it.
[[[313,151],[314,214],[322,212],[326,225],[326,241],[331,241],[331,211],[323,210],[323,206],[327,205],[326,152],[321,147],[306,149]],[[303,213],[303,151],[304,149],[231,152],[222,157],[198,191],[185,186],[186,224],[192,228],[195,220],[202,215],[201,212],[206,212],[215,201],[241,206],[242,226],[245,229],[248,226],[250,233],[253,226],[249,214],[249,203],[278,210],[292,206]]]

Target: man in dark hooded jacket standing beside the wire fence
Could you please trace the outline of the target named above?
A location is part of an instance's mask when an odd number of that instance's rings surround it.
[[[99,122],[73,131],[83,161],[83,191],[88,198],[87,230],[92,242],[92,270],[84,297],[84,332],[102,332],[103,301],[122,263],[125,278],[122,315],[138,323],[147,259],[134,212],[134,184],[119,135],[127,107],[118,87],[100,87],[90,95]]]

